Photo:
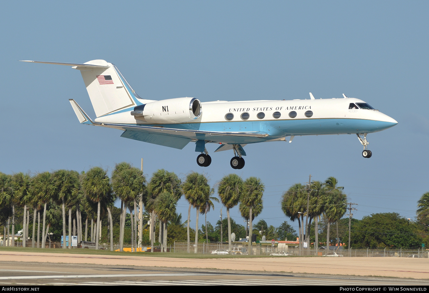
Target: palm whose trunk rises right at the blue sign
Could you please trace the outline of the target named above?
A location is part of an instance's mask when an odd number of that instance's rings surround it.
[[[58,170],[54,173],[56,183],[57,201],[63,208],[63,249],[66,248],[66,210],[65,203],[69,196],[75,196],[79,192],[79,178],[76,172]],[[71,242],[72,239],[69,239]]]

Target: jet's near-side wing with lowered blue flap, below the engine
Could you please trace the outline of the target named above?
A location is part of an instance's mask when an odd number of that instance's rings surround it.
[[[262,132],[221,132],[153,127],[127,124],[101,123],[100,126],[125,130],[121,137],[136,139],[156,145],[182,149],[191,140],[205,140],[223,144],[263,142],[268,136]]]

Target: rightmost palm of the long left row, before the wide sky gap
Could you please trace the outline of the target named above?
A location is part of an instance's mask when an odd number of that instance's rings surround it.
[[[249,251],[252,253],[252,209],[254,206],[258,205],[262,211],[262,196],[264,193],[265,187],[261,182],[261,179],[256,177],[249,177],[244,181],[244,190],[240,198],[240,202],[243,203],[246,207],[249,208]]]

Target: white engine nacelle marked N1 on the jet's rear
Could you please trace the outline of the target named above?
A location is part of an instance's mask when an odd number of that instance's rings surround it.
[[[201,102],[196,98],[160,100],[134,107],[131,115],[143,116],[152,123],[185,123],[201,116]],[[138,118],[137,118],[138,119]]]

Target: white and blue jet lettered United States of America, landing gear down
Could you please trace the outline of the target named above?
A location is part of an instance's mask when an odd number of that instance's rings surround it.
[[[206,143],[220,146],[215,150],[233,150],[230,164],[234,169],[245,165],[243,147],[250,143],[289,141],[297,135],[356,133],[368,150],[368,133],[395,126],[398,122],[375,110],[363,100],[348,98],[309,100],[257,100],[200,102],[184,97],[146,100],[139,97],[118,68],[105,60],[86,63],[57,63],[80,70],[97,118],[91,120],[71,99],[70,104],[81,124],[123,130],[122,137],[182,149],[195,142],[199,166],[207,167],[211,157]]]

